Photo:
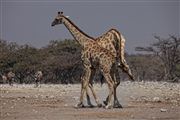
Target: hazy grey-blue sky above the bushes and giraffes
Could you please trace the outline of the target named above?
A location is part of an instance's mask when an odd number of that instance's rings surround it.
[[[64,25],[51,27],[58,11],[98,37],[111,28],[126,38],[126,51],[154,42],[153,35],[180,36],[180,0],[0,0],[0,38],[35,47],[72,38]]]

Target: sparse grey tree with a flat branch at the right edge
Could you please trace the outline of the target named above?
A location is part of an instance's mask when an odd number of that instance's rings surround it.
[[[164,66],[164,79],[178,81],[180,38],[172,35],[167,39],[163,39],[159,36],[154,36],[154,38],[157,42],[148,47],[136,47],[136,51],[145,51],[157,56]]]

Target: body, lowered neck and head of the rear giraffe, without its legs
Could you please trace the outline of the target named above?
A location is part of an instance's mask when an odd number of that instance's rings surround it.
[[[128,74],[131,80],[134,80],[129,65],[124,57],[124,36],[118,30],[112,28],[95,40],[100,46],[110,50],[115,56],[117,56],[118,66],[123,70],[123,72]]]

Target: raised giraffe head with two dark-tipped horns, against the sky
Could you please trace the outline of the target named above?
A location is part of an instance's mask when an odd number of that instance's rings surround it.
[[[51,23],[51,26],[62,24],[66,16],[63,15],[63,12],[58,12],[58,15],[55,17],[54,21]]]

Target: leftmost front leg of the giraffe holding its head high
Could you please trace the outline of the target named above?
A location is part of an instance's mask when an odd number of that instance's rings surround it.
[[[91,75],[91,69],[89,65],[84,65],[84,75],[82,77],[82,84],[81,84],[81,95],[80,95],[80,102],[76,105],[76,107],[84,107],[83,98],[84,93],[86,92],[87,86],[89,84],[89,79]]]

